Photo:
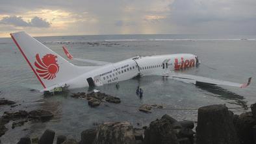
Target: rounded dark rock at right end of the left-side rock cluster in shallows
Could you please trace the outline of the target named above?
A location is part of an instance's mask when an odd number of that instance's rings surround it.
[[[53,113],[47,110],[32,110],[29,112],[29,117],[39,119],[41,121],[49,121],[53,117]]]

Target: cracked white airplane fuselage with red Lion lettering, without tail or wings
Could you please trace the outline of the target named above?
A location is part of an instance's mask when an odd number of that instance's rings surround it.
[[[170,71],[194,67],[198,63],[194,54],[166,54],[136,56],[121,62],[107,64],[75,77],[66,84],[70,88],[102,86],[128,80],[136,76],[164,75]]]

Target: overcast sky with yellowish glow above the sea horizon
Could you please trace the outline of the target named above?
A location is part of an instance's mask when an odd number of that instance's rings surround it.
[[[0,37],[256,34],[256,0],[0,0]]]

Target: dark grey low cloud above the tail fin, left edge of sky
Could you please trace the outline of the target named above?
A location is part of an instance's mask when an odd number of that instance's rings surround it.
[[[14,25],[16,27],[50,27],[51,23],[35,16],[31,21],[25,21],[21,16],[6,16],[0,20],[1,24]]]

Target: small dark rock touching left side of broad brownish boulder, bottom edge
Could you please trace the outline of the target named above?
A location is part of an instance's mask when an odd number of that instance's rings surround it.
[[[97,134],[96,129],[84,130],[81,133],[80,144],[92,144],[94,142],[94,139],[96,138],[96,134]]]

